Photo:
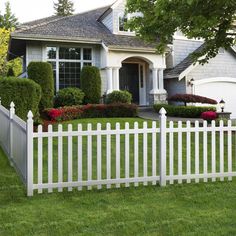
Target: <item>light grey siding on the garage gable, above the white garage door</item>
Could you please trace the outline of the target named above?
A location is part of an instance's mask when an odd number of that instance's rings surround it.
[[[187,80],[229,77],[236,80],[236,55],[232,51],[219,53],[205,65],[196,66],[186,77]],[[187,92],[191,93],[191,87],[187,87]]]

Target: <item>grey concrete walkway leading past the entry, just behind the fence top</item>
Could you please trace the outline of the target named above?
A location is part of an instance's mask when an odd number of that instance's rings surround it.
[[[159,114],[155,112],[152,109],[146,109],[146,110],[139,110],[138,116],[140,118],[146,119],[146,120],[159,120]],[[182,117],[167,117],[168,121],[190,121],[191,123],[194,123],[196,120],[198,120],[200,123],[203,123],[202,119],[195,119],[195,118],[182,118]]]

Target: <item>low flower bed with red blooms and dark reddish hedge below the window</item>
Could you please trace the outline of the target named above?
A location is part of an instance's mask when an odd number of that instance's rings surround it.
[[[46,109],[44,114],[51,121],[68,121],[80,118],[136,117],[135,104],[99,104]]]

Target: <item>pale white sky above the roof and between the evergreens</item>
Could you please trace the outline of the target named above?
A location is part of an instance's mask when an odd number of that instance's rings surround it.
[[[75,13],[107,6],[115,0],[72,0]],[[0,0],[0,12],[4,13],[6,0]],[[54,14],[53,2],[57,0],[9,0],[12,12],[20,23],[28,22]]]

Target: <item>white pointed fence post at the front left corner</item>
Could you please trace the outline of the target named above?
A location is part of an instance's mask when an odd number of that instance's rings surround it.
[[[33,196],[33,132],[34,132],[34,121],[33,113],[29,111],[27,119],[27,196]]]

